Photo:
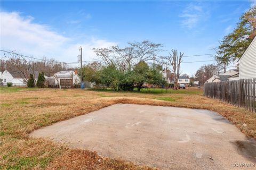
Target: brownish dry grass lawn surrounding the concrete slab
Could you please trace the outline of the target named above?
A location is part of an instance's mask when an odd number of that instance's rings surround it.
[[[162,94],[162,90],[138,93],[1,88],[0,169],[152,169],[28,137],[35,129],[117,103],[209,109],[219,112],[248,137],[256,139],[255,113],[203,97],[199,92],[180,91]]]

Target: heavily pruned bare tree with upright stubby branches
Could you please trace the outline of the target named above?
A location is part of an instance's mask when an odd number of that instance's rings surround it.
[[[174,89],[178,89],[178,80],[181,74],[180,64],[182,63],[182,57],[184,53],[178,55],[177,50],[172,50],[172,54],[169,53],[169,56],[164,57],[167,61],[166,64],[169,66],[169,69],[173,72],[174,75]]]

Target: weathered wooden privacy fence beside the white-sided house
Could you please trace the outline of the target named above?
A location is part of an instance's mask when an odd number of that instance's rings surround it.
[[[255,79],[242,79],[205,83],[203,95],[256,112],[255,81]]]

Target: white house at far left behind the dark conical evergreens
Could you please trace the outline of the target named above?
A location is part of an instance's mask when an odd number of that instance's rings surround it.
[[[26,82],[21,78],[18,72],[5,70],[0,79],[3,81],[3,86],[6,86],[8,82],[11,82],[13,86],[27,86]]]

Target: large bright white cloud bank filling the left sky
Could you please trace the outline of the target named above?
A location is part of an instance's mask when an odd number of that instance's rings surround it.
[[[17,12],[0,12],[1,49],[15,50],[23,55],[55,58],[58,61],[73,62],[79,54],[78,47],[83,47],[84,60],[95,57],[92,48],[109,47],[115,43],[87,38],[76,41],[51,30],[48,25],[34,23],[31,16],[23,17]],[[87,35],[88,37],[88,35]]]

